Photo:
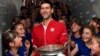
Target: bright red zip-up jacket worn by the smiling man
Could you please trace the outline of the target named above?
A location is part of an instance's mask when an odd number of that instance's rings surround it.
[[[32,31],[33,45],[41,47],[50,44],[65,44],[67,42],[67,30],[63,23],[52,20],[44,32],[42,24],[35,26]],[[35,55],[38,56],[38,55]]]

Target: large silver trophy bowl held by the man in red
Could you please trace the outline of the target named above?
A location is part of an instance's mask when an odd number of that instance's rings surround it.
[[[65,48],[60,44],[45,45],[39,47],[38,51],[42,56],[56,56],[59,52],[64,52]]]

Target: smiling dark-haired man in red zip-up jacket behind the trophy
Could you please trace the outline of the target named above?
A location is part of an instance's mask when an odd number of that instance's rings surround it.
[[[52,3],[49,1],[41,2],[40,14],[43,17],[43,21],[33,28],[33,46],[39,48],[50,44],[65,45],[67,42],[67,30],[65,25],[55,21],[52,18],[52,13]]]

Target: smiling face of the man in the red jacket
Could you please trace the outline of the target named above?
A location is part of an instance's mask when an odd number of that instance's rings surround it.
[[[51,8],[50,4],[41,4],[40,14],[42,15],[43,19],[49,19],[52,13],[53,9]]]

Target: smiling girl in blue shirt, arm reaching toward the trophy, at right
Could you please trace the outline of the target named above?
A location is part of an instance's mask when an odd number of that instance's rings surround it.
[[[90,26],[84,27],[82,32],[82,40],[76,44],[75,48],[71,51],[71,55],[74,56],[77,52],[79,52],[81,56],[91,56],[90,47],[94,35],[94,28]]]

